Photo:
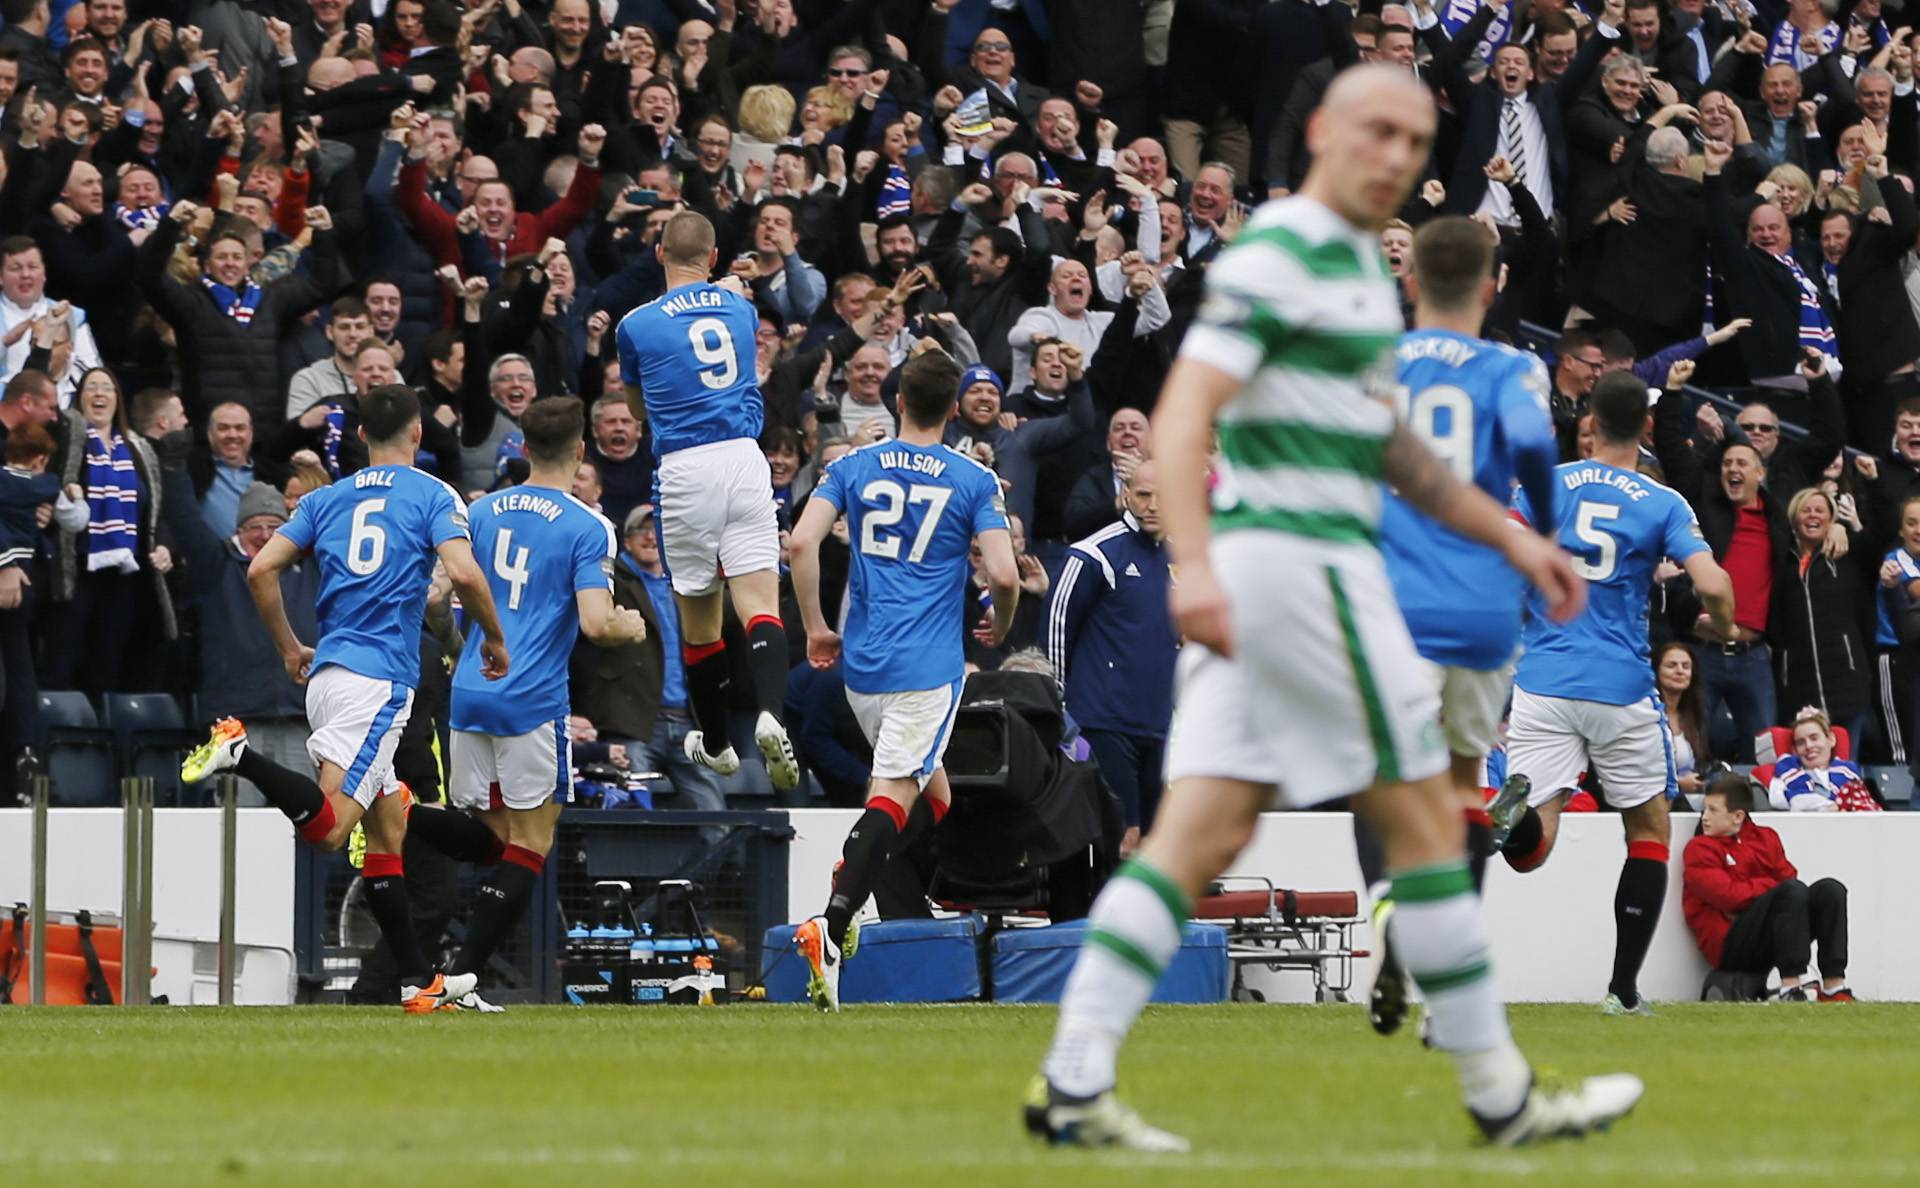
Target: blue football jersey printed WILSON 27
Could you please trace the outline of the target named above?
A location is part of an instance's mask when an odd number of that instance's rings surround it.
[[[876,441],[835,459],[812,497],[847,514],[852,541],[847,687],[914,693],[958,681],[973,537],[1006,530],[1000,480],[947,445]]]

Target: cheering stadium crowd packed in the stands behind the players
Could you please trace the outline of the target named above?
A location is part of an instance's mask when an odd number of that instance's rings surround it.
[[[895,430],[908,357],[968,365],[948,441],[1006,487],[1025,603],[970,660],[1043,649],[1139,825],[1179,643],[1154,399],[1208,263],[1304,177],[1332,75],[1388,61],[1442,104],[1390,267],[1436,213],[1486,225],[1488,334],[1553,328],[1565,459],[1601,374],[1668,392],[1644,468],[1738,606],[1715,633],[1668,566],[1651,608],[1688,791],[1799,706],[1855,760],[1907,762],[1920,94],[1884,2],[0,0],[0,747],[29,743],[36,687],[167,691],[292,762],[301,695],[246,562],[365,464],[355,399],[399,378],[430,411],[419,464],[463,493],[524,478],[534,397],[589,405],[574,493],[616,526],[649,639],[582,649],[574,733],[605,748],[582,754],[664,772],[666,804],[756,791],[753,764],[682,758],[651,441],[611,336],[695,209],[760,311],[785,516]],[[847,541],[824,557],[839,622]],[[315,583],[282,582],[296,630]],[[791,610],[795,743],[858,804],[866,745]],[[430,649],[420,731],[445,708]],[[1849,802],[1811,752],[1812,795],[1782,802]]]

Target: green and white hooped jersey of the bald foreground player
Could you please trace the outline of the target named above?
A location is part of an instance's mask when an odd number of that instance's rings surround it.
[[[1219,411],[1213,530],[1377,541],[1405,328],[1379,236],[1311,198],[1271,202],[1206,290],[1181,355],[1244,380]]]

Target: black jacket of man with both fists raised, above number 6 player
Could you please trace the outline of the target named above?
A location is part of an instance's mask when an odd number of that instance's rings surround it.
[[[207,413],[227,401],[253,413],[253,430],[286,418],[286,390],[280,384],[280,332],[296,317],[334,296],[340,261],[330,230],[313,236],[313,276],[282,276],[263,286],[253,321],[240,322],[213,303],[200,284],[180,284],[167,274],[167,261],[180,242],[180,225],[161,219],[140,246],[140,288],[163,319],[173,322],[180,347],[182,386],[188,416],[205,424]]]

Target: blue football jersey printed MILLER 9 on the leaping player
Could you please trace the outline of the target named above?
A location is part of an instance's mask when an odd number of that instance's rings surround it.
[[[620,319],[620,380],[647,393],[653,455],[747,438],[766,405],[755,370],[753,301],[718,284],[668,290]]]

